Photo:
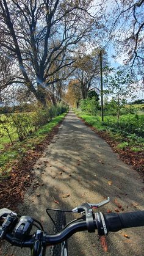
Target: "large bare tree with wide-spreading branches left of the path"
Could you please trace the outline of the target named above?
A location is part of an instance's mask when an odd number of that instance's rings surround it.
[[[12,82],[18,79],[24,83],[43,106],[46,105],[46,90],[41,85],[45,84],[50,89],[50,85],[61,80],[54,75],[73,64],[71,53],[77,43],[92,32],[95,19],[88,13],[91,2],[0,2],[1,52],[13,57],[20,72]],[[51,89],[49,97],[54,102]]]

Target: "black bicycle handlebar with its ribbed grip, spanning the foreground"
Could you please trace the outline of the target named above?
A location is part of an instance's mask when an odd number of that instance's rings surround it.
[[[107,235],[109,232],[117,232],[118,230],[129,228],[129,227],[140,227],[144,226],[144,211],[135,211],[131,213],[109,213],[103,214],[93,213],[93,225],[95,230],[98,229],[99,235]],[[13,229],[14,230],[14,229]],[[18,239],[15,236],[15,232],[9,230],[5,233],[4,239],[9,243],[20,246],[20,247],[32,247],[35,241],[40,241],[43,246],[49,246],[61,243],[67,240],[76,232],[88,230],[87,221],[81,220],[69,224],[61,232],[56,235],[49,235],[46,232],[37,230],[34,235],[26,235],[23,239]],[[2,228],[0,227],[0,235]]]

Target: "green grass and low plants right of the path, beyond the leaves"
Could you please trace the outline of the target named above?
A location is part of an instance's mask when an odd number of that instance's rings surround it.
[[[106,116],[104,122],[101,122],[99,116],[88,115],[81,111],[75,112],[97,130],[109,133],[109,136],[118,142],[118,149],[125,150],[129,147],[133,152],[144,150],[144,115],[122,115],[119,122],[117,117]]]

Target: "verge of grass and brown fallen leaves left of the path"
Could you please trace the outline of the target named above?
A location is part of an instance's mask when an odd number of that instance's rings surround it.
[[[1,168],[0,208],[15,211],[18,203],[23,201],[25,189],[32,185],[34,179],[32,167],[57,134],[66,114],[55,117],[33,136],[15,145],[15,159],[4,162]],[[9,151],[13,152],[13,147]]]

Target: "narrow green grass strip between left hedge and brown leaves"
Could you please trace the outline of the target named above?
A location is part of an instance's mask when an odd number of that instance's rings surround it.
[[[21,159],[24,156],[24,153],[27,152],[27,150],[33,150],[35,146],[43,142],[45,137],[48,136],[48,133],[51,132],[52,128],[54,128],[54,126],[56,126],[63,119],[63,117],[65,117],[65,115],[66,113],[54,117],[51,122],[47,123],[44,126],[41,126],[41,128],[37,132],[27,137],[27,139],[25,139],[24,141],[18,141],[12,147],[9,147],[9,149],[7,148],[5,150],[2,150],[0,154],[0,173],[2,172],[2,170],[5,170],[7,164],[12,165],[13,160]],[[10,172],[10,167],[6,170],[6,173],[7,172]]]

